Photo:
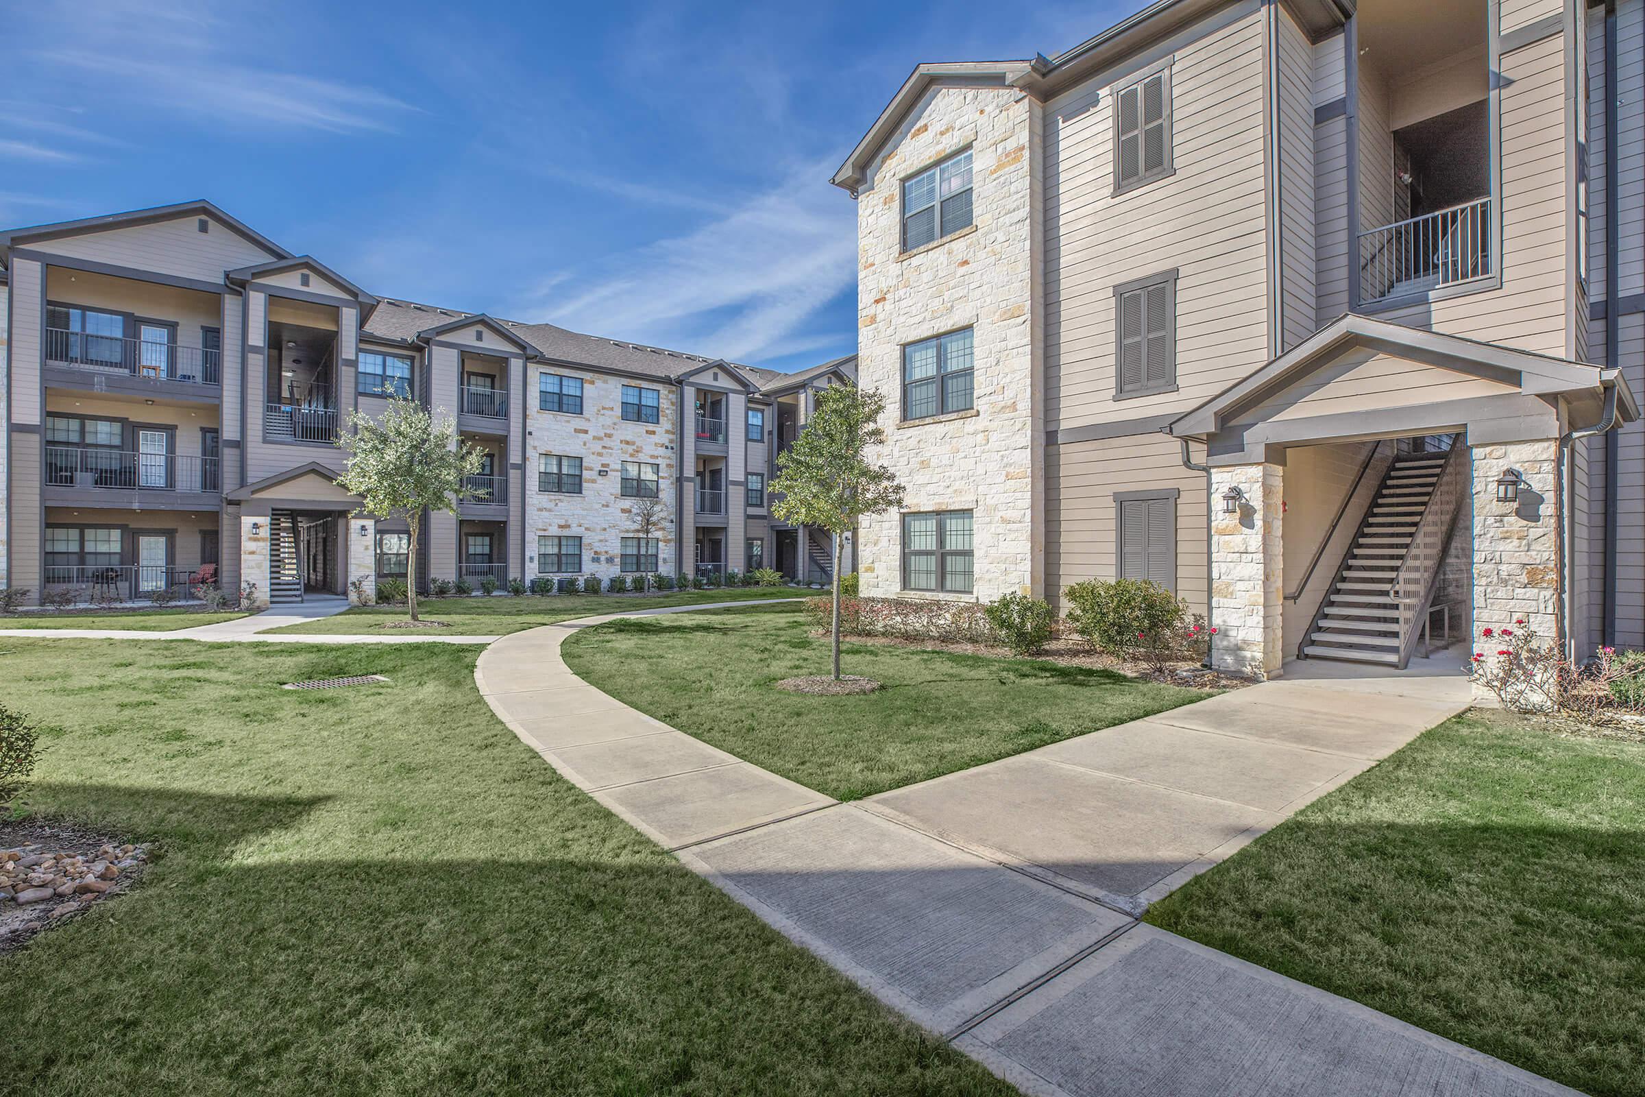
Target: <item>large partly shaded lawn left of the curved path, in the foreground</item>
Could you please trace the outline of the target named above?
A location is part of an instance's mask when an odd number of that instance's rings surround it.
[[[0,957],[0,1090],[1015,1092],[556,776],[474,660],[7,641],[28,806],[160,860]]]

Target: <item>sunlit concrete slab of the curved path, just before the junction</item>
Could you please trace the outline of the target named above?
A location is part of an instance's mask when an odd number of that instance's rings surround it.
[[[747,761],[592,793],[665,849],[725,837],[834,803]]]

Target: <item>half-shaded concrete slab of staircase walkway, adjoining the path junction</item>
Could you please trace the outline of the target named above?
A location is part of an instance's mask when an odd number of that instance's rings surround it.
[[[1140,913],[1165,877],[1278,817],[1030,753],[880,793],[870,811]]]

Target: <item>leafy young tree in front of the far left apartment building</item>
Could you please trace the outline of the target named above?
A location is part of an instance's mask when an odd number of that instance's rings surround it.
[[[438,416],[438,418],[436,418]],[[406,604],[416,615],[416,535],[423,511],[457,513],[462,479],[477,475],[485,451],[472,442],[457,444],[457,424],[444,410],[436,414],[416,403],[390,396],[380,418],[354,411],[337,447],[349,454],[349,467],[337,485],[360,497],[359,513],[373,518],[405,518],[411,530],[406,558]]]

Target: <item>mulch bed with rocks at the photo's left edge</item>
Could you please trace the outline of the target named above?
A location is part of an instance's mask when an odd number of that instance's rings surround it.
[[[141,845],[69,822],[0,822],[0,956],[125,891],[148,860]]]

